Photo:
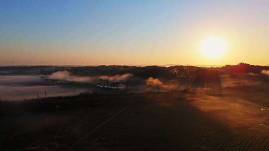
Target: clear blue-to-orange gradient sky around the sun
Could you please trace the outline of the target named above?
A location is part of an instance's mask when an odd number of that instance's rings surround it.
[[[0,0],[0,65],[268,65],[268,40],[269,0]]]

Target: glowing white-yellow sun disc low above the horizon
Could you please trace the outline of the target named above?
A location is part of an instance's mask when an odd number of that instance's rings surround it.
[[[208,58],[217,58],[227,51],[227,43],[221,37],[210,36],[201,42],[202,54]]]

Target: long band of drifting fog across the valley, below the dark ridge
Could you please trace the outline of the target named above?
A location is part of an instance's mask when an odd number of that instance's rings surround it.
[[[82,76],[68,71],[50,75],[0,75],[0,99],[23,100],[51,96],[77,95],[81,92],[126,92],[174,91],[185,88],[229,88],[251,87],[265,89],[269,82],[269,71],[260,74],[218,75],[208,72],[206,76],[174,76],[165,78],[141,78],[130,73],[122,75]]]

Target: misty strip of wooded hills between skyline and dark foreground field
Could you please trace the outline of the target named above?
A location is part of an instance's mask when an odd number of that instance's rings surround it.
[[[22,75],[17,71],[2,71],[7,74],[0,75],[0,97],[2,100],[23,100],[36,98],[37,95],[45,97],[45,93],[46,96],[67,96],[82,92],[142,93],[196,88],[254,88],[264,87],[265,82],[269,81],[267,67],[247,71],[244,66],[238,66],[238,71],[230,67],[208,70],[184,66],[113,67],[113,70],[111,67],[63,67],[57,69],[59,71],[49,67],[40,71],[25,69],[26,74]],[[102,70],[107,71],[104,73]],[[119,88],[122,90],[119,91]]]

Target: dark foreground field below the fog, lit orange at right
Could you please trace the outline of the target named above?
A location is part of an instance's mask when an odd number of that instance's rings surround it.
[[[268,88],[1,102],[0,151],[269,151]]]

